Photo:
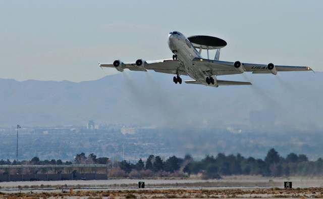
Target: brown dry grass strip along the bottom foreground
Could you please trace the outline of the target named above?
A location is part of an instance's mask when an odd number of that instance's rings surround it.
[[[323,187],[285,189],[165,189],[165,190],[114,190],[114,191],[74,191],[42,193],[0,193],[0,198],[66,198],[70,196],[83,198],[217,198],[217,197],[323,197]]]

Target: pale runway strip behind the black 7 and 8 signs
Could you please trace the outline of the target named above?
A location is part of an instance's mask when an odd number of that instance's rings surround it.
[[[262,176],[224,176],[223,179],[202,180],[197,178],[160,178],[160,179],[109,179],[109,180],[61,180],[61,181],[18,181],[0,182],[0,190],[4,188],[21,187],[137,187],[139,181],[144,181],[148,186],[207,186],[207,187],[282,187],[284,181],[292,181],[294,187],[306,188],[313,186],[323,186],[323,177],[289,177],[275,178]]]

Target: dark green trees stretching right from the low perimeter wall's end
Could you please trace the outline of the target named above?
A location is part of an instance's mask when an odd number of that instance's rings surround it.
[[[184,158],[172,156],[164,161],[159,156],[150,155],[145,164],[140,159],[136,164],[122,161],[119,166],[126,174],[133,170],[150,170],[154,173],[180,172],[188,176],[201,174],[203,178],[221,178],[222,175],[323,175],[323,159],[309,161],[306,155],[295,153],[284,158],[274,148],[268,151],[264,159],[219,153],[216,157],[208,155],[202,160],[193,160],[186,155]]]

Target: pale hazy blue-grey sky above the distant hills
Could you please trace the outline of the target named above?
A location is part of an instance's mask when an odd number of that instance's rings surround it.
[[[221,60],[323,71],[323,1],[0,1],[0,78],[94,80],[99,62],[171,58],[168,33],[225,39]]]

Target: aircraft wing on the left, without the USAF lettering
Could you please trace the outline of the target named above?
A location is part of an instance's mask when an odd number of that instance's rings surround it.
[[[142,61],[142,64],[140,66],[138,66],[136,63],[123,63],[120,61],[117,67],[114,66],[114,64],[99,64],[99,66],[116,68],[118,71],[123,71],[123,69],[129,69],[131,71],[154,70],[155,72],[159,72],[159,73],[168,73],[168,74],[178,73],[179,75],[187,75],[187,73],[185,72],[184,66],[178,60],[172,60],[172,59]]]

